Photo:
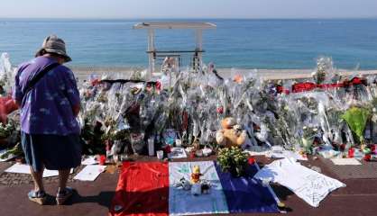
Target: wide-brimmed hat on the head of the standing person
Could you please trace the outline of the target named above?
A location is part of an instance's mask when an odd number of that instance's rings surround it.
[[[41,45],[41,49],[37,51],[35,54],[35,57],[40,57],[43,55],[43,52],[48,53],[55,53],[60,55],[61,57],[65,58],[66,62],[69,62],[72,60],[72,58],[69,57],[66,51],[66,43],[64,40],[61,40],[56,35],[50,35],[45,40],[43,40],[43,44]]]

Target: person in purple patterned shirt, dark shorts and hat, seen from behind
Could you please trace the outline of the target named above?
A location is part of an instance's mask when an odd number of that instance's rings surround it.
[[[81,162],[78,87],[72,71],[63,66],[70,60],[64,41],[51,35],[43,41],[36,58],[23,63],[15,76],[22,146],[34,180],[28,197],[40,204],[47,197],[42,182],[44,167],[59,170],[56,201],[62,204],[73,193],[67,187],[69,171]]]

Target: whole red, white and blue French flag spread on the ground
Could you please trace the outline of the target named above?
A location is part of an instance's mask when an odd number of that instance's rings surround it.
[[[210,182],[210,193],[195,196],[174,186],[182,177],[190,179],[194,166]],[[234,178],[214,161],[124,162],[109,215],[280,212],[271,188],[253,178],[258,169],[253,163],[247,177]]]

